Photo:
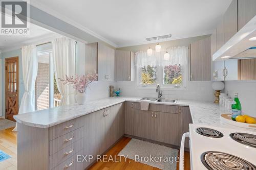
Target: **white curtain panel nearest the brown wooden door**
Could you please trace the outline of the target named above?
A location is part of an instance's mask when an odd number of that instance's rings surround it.
[[[37,76],[37,51],[35,45],[22,46],[22,72],[25,92],[18,114],[35,111],[35,80]],[[17,131],[17,125],[13,131]]]

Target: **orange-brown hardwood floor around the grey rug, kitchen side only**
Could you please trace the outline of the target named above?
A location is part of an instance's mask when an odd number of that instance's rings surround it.
[[[118,143],[114,145],[105,155],[112,157],[117,155],[131,138],[123,137]],[[96,162],[90,167],[90,170],[112,170],[112,169],[135,169],[135,170],[158,170],[159,168],[152,167],[140,162],[135,162],[132,159],[127,159],[125,162],[124,157],[121,157],[120,162]],[[190,169],[189,152],[184,154],[184,170]],[[179,170],[179,163],[177,163],[177,170]]]

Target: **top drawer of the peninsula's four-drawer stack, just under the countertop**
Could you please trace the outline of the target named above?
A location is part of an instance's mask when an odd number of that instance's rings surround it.
[[[56,125],[49,129],[49,140],[53,140],[59,136],[65,135],[75,129],[78,129],[83,126],[82,117],[78,117],[68,122]]]

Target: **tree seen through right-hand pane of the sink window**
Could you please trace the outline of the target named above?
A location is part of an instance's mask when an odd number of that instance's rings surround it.
[[[164,84],[181,84],[182,69],[180,64],[164,66]]]

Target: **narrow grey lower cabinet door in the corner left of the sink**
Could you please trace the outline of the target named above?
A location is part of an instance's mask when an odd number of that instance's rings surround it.
[[[124,133],[127,135],[134,135],[134,103],[125,102],[125,113],[124,113]]]

